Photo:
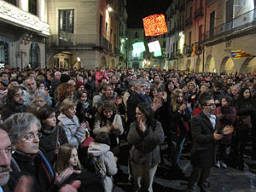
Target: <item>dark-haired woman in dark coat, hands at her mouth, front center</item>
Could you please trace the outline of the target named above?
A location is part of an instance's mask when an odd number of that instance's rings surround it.
[[[136,108],[137,120],[131,123],[127,141],[132,145],[130,158],[134,177],[134,191],[153,191],[152,184],[160,163],[160,144],[165,135],[159,121],[146,102]]]

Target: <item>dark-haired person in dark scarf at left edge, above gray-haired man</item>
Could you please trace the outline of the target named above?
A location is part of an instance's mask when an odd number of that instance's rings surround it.
[[[23,105],[23,90],[20,86],[13,86],[9,88],[6,98],[6,104],[1,108],[2,119],[7,119],[14,113],[22,113],[25,111]]]

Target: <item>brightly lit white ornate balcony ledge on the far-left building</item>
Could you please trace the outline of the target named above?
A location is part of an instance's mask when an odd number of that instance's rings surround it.
[[[49,37],[49,24],[43,22],[38,16],[32,15],[12,4],[0,1],[0,20],[11,25],[20,26],[39,35]]]

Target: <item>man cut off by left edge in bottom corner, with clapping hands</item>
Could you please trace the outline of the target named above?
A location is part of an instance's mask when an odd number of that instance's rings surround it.
[[[9,136],[6,131],[0,129],[0,191],[8,192],[9,189],[9,172],[11,165],[12,154],[15,148],[11,145]],[[14,173],[14,172],[13,172]],[[18,173],[18,172],[15,172]],[[11,175],[13,177],[13,174]],[[32,179],[29,177],[20,177],[20,181],[15,186],[15,192],[30,192]],[[59,192],[77,192],[80,182],[76,181],[72,185],[67,184],[62,187]],[[12,188],[14,186],[11,186]]]

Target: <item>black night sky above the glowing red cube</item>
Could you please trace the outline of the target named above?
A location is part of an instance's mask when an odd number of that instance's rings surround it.
[[[165,14],[170,0],[127,0],[127,26],[143,28],[143,18],[148,15]]]

